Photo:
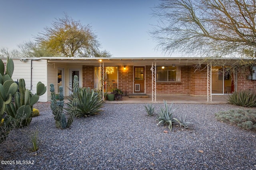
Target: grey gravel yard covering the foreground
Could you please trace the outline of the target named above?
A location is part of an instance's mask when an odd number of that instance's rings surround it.
[[[164,107],[153,105],[156,112]],[[215,119],[218,111],[241,108],[234,105],[174,104],[174,116],[187,114],[194,125],[172,132],[148,117],[143,103],[105,103],[100,115],[75,118],[64,130],[55,128],[50,103],[34,107],[40,116],[1,144],[0,159],[9,165],[0,169],[256,169],[256,132]],[[29,152],[34,130],[39,150]]]

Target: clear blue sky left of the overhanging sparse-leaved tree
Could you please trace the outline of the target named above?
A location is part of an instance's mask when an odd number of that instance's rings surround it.
[[[90,24],[112,57],[170,57],[157,51],[149,32],[159,0],[0,0],[0,48],[33,41],[64,13]],[[175,56],[174,56],[175,57]]]

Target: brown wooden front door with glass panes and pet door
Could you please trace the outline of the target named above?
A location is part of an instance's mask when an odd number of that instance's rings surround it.
[[[145,93],[145,67],[134,67],[134,93]]]

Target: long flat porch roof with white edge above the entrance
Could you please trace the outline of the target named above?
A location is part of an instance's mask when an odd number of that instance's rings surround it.
[[[37,58],[38,59],[38,58]],[[202,57],[40,57],[47,59],[48,63],[76,63],[78,65],[98,65],[104,63],[104,66],[113,65],[196,65],[207,64],[212,62],[215,64],[234,65],[241,61],[241,58],[202,58]],[[249,59],[249,58],[248,58]],[[246,59],[247,60],[247,59]]]

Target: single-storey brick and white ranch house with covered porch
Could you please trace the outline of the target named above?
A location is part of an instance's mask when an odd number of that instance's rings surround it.
[[[26,88],[36,93],[41,81],[47,91],[39,101],[51,100],[50,83],[63,86],[64,96],[72,93],[74,75],[79,85],[110,92],[121,89],[124,94],[147,94],[156,101],[157,95],[189,95],[206,97],[224,95],[235,90],[256,91],[256,67],[232,67],[240,59],[210,59],[196,57],[126,57],[126,58],[76,58],[40,57],[12,58],[12,79],[24,78]],[[6,58],[2,58],[6,62]],[[244,61],[247,61],[244,59]],[[249,61],[249,59],[248,59]],[[255,62],[254,62],[255,63]]]

